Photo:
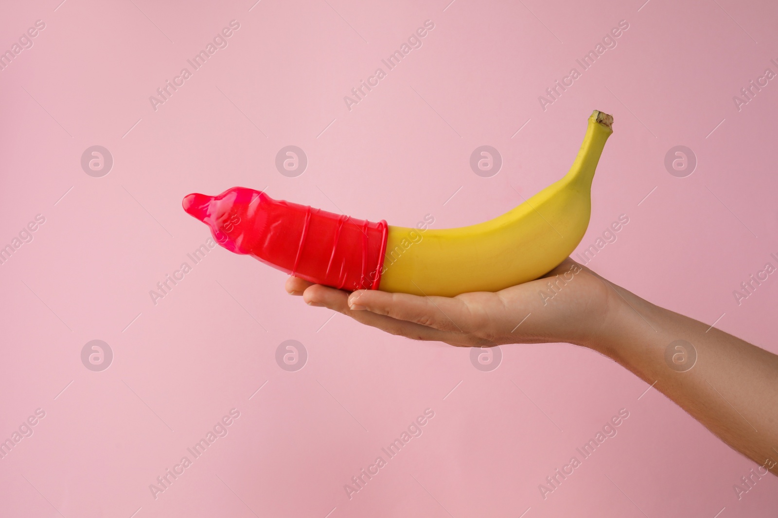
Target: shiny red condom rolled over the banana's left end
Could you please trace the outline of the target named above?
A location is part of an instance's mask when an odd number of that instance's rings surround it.
[[[377,290],[387,223],[356,220],[233,187],[219,196],[188,194],[188,214],[207,224],[219,245],[310,282]]]

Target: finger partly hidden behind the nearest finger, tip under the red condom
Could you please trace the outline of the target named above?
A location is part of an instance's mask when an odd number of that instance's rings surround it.
[[[459,332],[443,332],[426,325],[406,322],[386,315],[378,315],[371,311],[352,310],[349,308],[348,303],[349,294],[342,290],[321,286],[321,284],[314,284],[307,288],[303,294],[303,300],[313,306],[323,306],[333,311],[338,311],[361,324],[370,325],[392,335],[401,335],[413,340],[429,340],[465,345],[464,337],[457,336],[461,334]]]

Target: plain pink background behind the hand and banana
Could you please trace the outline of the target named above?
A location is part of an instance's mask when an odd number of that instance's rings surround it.
[[[738,500],[754,463],[587,350],[503,346],[482,372],[468,349],[308,308],[282,273],[223,249],[149,297],[209,235],[181,210],[187,193],[268,186],[372,221],[473,224],[520,203],[510,186],[559,179],[598,109],[615,133],[580,249],[619,214],[629,224],[589,266],[778,352],[778,279],[739,306],[732,294],[778,252],[778,84],[740,111],[732,100],[778,71],[774,2],[59,2],[0,17],[2,50],[46,23],[0,71],[0,245],[46,218],[0,266],[0,438],[46,412],[0,459],[0,515],[774,516],[775,478]],[[152,110],[232,19],[229,46]],[[422,47],[349,111],[343,97],[426,19]],[[622,19],[617,47],[542,110]],[[102,178],[80,165],[95,144],[114,158]],[[296,178],[275,169],[289,144],[309,160]],[[482,144],[503,156],[491,178],[468,164]],[[699,162],[685,178],[664,168],[679,144]],[[102,372],[80,359],[93,339],[114,352]],[[307,349],[302,370],[275,362],[287,339]],[[155,499],[149,485],[230,408],[229,434]],[[422,436],[349,499],[343,486],[425,408]],[[618,435],[542,499],[619,408]]]

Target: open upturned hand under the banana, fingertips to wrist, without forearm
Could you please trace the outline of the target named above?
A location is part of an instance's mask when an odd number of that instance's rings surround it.
[[[571,342],[584,345],[607,329],[619,297],[608,281],[566,259],[538,280],[496,293],[418,297],[379,290],[351,294],[289,277],[286,290],[393,335],[452,346]]]

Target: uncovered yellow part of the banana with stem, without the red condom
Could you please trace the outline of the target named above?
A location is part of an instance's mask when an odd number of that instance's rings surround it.
[[[462,228],[388,227],[380,290],[453,297],[498,291],[559,265],[584,238],[591,182],[613,117],[595,110],[569,172],[518,207]],[[414,238],[419,236],[419,238]]]

